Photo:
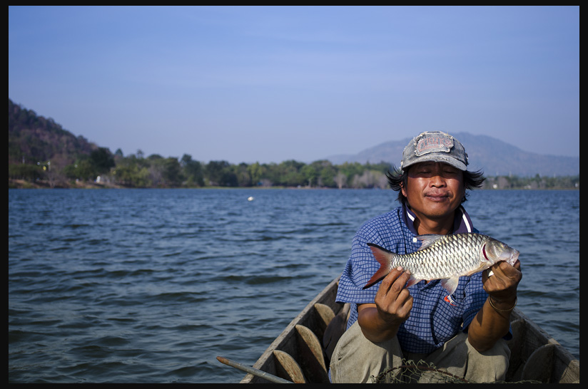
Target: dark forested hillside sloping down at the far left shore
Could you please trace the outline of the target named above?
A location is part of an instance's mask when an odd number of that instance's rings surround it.
[[[37,115],[8,99],[8,162],[69,165],[98,146],[61,128],[51,118]]]

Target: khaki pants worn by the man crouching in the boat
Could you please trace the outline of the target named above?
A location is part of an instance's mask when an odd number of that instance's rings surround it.
[[[465,378],[470,382],[504,380],[510,359],[510,349],[504,339],[494,347],[479,353],[467,341],[467,333],[458,333],[441,348],[430,354],[402,353],[396,337],[382,343],[368,341],[358,322],[353,323],[340,338],[330,363],[333,383],[369,383],[385,368],[402,364],[402,358],[432,363],[435,368]],[[422,375],[420,382],[430,382]]]

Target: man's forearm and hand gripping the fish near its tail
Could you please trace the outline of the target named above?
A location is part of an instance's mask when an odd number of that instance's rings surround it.
[[[382,280],[375,304],[358,306],[358,323],[365,338],[380,343],[396,336],[412,309],[412,296],[405,287],[409,278],[410,272],[393,269]]]

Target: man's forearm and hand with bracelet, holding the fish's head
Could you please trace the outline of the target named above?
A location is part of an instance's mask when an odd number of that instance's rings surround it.
[[[494,275],[482,274],[488,299],[468,328],[468,340],[477,351],[492,348],[506,335],[510,327],[510,313],[517,303],[517,286],[522,278],[520,262],[514,266],[501,261],[490,268]]]

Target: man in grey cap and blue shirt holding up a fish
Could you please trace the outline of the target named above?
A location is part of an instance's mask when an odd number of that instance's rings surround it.
[[[421,133],[388,173],[400,207],[360,228],[337,301],[351,303],[330,363],[333,383],[370,382],[402,358],[473,382],[504,380],[519,252],[480,234],[462,207],[482,172],[463,145]]]

